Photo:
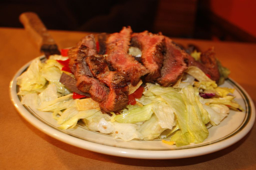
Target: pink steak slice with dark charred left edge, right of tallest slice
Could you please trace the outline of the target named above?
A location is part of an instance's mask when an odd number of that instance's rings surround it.
[[[154,35],[148,31],[132,34],[132,46],[142,51],[141,62],[149,70],[146,81],[155,82],[161,77],[164,59],[165,41],[163,35]]]

